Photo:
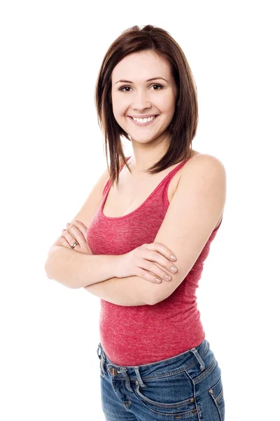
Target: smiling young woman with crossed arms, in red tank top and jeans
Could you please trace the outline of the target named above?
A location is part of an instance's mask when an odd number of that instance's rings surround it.
[[[101,298],[106,420],[222,421],[221,368],[195,292],[223,218],[225,168],[192,148],[197,92],[180,46],[152,25],[127,29],[104,57],[96,105],[110,168],[46,272]]]

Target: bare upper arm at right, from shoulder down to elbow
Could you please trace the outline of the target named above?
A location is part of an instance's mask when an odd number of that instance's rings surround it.
[[[179,185],[169,204],[155,243],[167,244],[174,251],[178,271],[172,282],[154,288],[151,305],[171,295],[186,278],[223,215],[226,173],[223,163],[211,155],[198,155],[183,168]]]

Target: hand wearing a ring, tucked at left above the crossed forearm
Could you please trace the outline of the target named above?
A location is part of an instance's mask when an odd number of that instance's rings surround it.
[[[80,253],[92,254],[89,245],[87,244],[87,227],[83,222],[75,221],[73,224],[66,225],[63,229],[60,242],[62,246],[71,248],[71,245],[78,241],[78,244],[72,249]]]

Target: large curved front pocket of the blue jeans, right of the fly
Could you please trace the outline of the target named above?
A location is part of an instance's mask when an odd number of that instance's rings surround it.
[[[146,387],[141,387],[139,382],[132,386],[134,395],[152,413],[165,415],[167,420],[168,415],[170,419],[184,419],[197,413],[193,384],[185,371],[143,379],[143,382]]]

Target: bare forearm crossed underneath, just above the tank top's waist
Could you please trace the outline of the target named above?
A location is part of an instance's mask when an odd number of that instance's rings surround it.
[[[139,276],[129,276],[94,283],[85,286],[85,290],[116,305],[138,306],[151,305],[151,291],[156,287],[160,288],[160,284],[145,281]]]

